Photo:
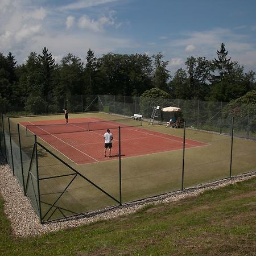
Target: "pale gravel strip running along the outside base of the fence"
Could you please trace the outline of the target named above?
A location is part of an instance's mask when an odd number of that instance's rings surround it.
[[[48,232],[56,232],[61,229],[73,228],[85,224],[90,224],[99,220],[107,220],[118,216],[137,212],[148,204],[171,203],[184,199],[185,197],[197,196],[209,189],[217,189],[229,184],[237,183],[256,176],[256,171],[251,171],[243,175],[234,176],[231,179],[213,181],[207,184],[175,191],[164,195],[150,197],[141,201],[123,204],[121,207],[109,207],[96,210],[79,216],[70,217],[65,220],[52,221],[47,224],[40,224],[40,220],[34,208],[23,195],[23,190],[18,181],[13,176],[13,172],[5,160],[0,156],[0,192],[5,201],[4,210],[7,218],[11,222],[14,236],[40,236]]]

